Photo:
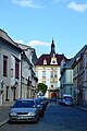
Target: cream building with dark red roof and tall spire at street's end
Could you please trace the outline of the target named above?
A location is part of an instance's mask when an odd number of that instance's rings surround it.
[[[50,53],[41,55],[37,60],[36,75],[38,83],[48,86],[46,97],[59,96],[61,61],[63,58],[67,60],[64,55],[55,53],[54,40],[52,39]]]

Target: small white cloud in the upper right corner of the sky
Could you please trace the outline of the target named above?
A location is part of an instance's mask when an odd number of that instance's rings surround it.
[[[87,10],[87,3],[80,4],[72,1],[71,3],[69,3],[67,8],[78,12],[85,12]]]

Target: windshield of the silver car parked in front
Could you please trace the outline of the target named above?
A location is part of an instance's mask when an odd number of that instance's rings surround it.
[[[13,106],[13,108],[27,108],[27,107],[29,108],[35,107],[34,100],[17,100]]]

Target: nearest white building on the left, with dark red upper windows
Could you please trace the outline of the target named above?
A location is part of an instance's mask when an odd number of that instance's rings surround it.
[[[8,34],[0,29],[0,106],[21,97],[21,51]]]

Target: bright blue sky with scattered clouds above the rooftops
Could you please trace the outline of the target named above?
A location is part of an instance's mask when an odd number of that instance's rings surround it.
[[[17,43],[35,48],[37,57],[74,57],[87,44],[87,0],[0,0],[0,28]]]

